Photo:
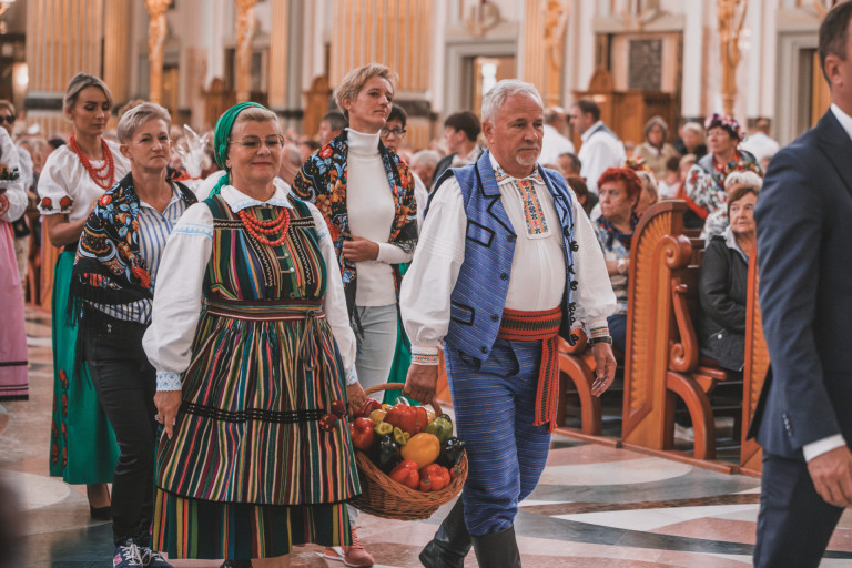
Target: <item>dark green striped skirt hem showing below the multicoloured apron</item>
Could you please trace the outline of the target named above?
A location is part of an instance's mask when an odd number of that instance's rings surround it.
[[[275,558],[308,542],[352,544],[345,503],[219,503],[156,489],[153,548],[169,558]]]

